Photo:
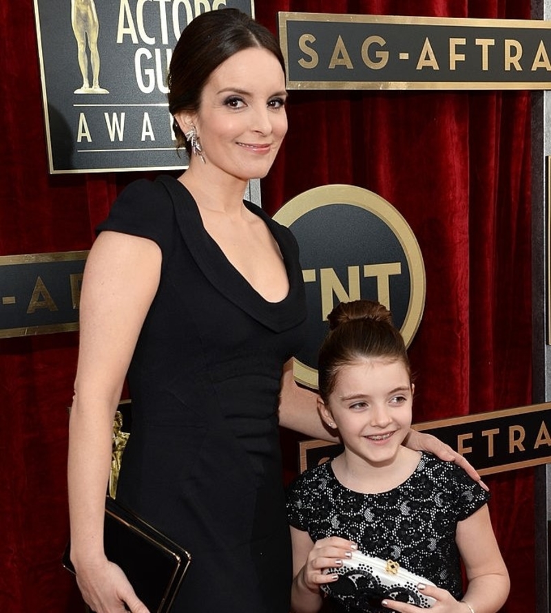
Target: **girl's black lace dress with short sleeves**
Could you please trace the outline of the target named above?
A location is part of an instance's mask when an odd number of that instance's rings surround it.
[[[291,526],[307,531],[314,542],[330,536],[356,541],[362,552],[393,559],[459,600],[463,590],[455,528],[488,499],[488,492],[459,466],[423,453],[404,483],[380,494],[345,488],[331,462],[316,466],[289,486],[287,514]],[[344,590],[340,580],[327,591],[334,611],[388,611],[366,594]]]

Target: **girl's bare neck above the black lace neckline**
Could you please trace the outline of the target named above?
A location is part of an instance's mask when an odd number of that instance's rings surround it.
[[[399,447],[393,460],[385,464],[373,464],[364,458],[344,450],[331,466],[340,484],[362,494],[388,492],[413,475],[421,455],[406,447]]]

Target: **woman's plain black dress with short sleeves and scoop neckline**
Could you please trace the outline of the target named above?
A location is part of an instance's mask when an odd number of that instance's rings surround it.
[[[98,226],[152,239],[163,254],[128,372],[132,433],[117,499],[191,552],[174,613],[289,612],[278,393],[306,304],[295,239],[245,204],[284,257],[290,289],[279,303],[231,266],[168,175],[130,184]]]

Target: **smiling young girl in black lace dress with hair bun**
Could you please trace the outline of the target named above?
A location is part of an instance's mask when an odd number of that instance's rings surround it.
[[[293,612],[319,611],[323,595],[337,612],[422,610],[375,590],[367,575],[363,583],[341,575],[355,550],[437,585],[417,585],[435,613],[497,612],[509,578],[488,493],[458,466],[402,445],[414,386],[391,313],[373,301],[342,303],[329,324],[319,355],[318,409],[344,452],[289,487]]]

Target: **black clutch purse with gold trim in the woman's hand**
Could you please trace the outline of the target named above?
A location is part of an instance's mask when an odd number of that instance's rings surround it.
[[[169,613],[191,555],[113,498],[105,501],[104,546],[107,559],[125,572],[151,613]],[[70,544],[63,566],[74,573]]]

